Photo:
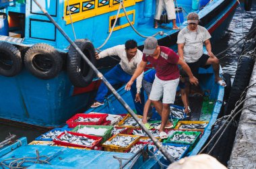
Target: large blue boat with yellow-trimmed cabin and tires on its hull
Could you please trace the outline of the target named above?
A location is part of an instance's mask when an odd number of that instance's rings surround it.
[[[38,2],[101,72],[118,61],[106,58],[96,62],[95,49],[104,50],[132,38],[142,50],[145,36],[154,34],[158,44],[175,49],[179,30],[172,30],[168,21],[162,21],[158,29],[153,27],[154,1]],[[187,13],[195,11],[214,42],[224,35],[238,2],[177,0],[175,5],[181,29],[187,25]],[[0,9],[1,119],[57,127],[86,110],[100,80],[69,48],[57,27],[34,1],[0,1]]]

